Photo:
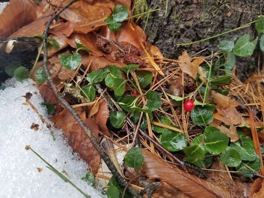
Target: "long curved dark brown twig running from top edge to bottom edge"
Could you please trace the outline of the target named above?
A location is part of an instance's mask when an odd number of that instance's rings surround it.
[[[72,114],[72,116],[75,118],[75,120],[78,122],[80,127],[85,131],[86,135],[90,139],[92,145],[94,148],[98,151],[100,154],[101,158],[104,160],[105,164],[111,170],[113,175],[116,177],[117,182],[120,186],[125,187],[127,182],[124,180],[124,178],[118,173],[115,165],[113,162],[110,160],[110,158],[107,156],[107,154],[103,151],[103,149],[100,147],[99,143],[93,136],[92,132],[90,129],[86,126],[84,121],[80,118],[78,113],[75,112],[75,110],[68,104],[68,102],[63,98],[63,96],[59,93],[56,85],[54,84],[53,79],[50,76],[50,72],[48,70],[47,66],[47,61],[48,61],[48,48],[47,48],[47,37],[48,37],[48,31],[50,29],[52,21],[59,16],[61,12],[63,12],[67,7],[69,7],[72,3],[76,2],[77,0],[71,0],[69,3],[67,3],[60,11],[58,11],[55,15],[53,15],[50,20],[48,21],[45,31],[43,33],[43,50],[44,50],[44,55],[43,55],[43,68],[45,70],[48,82],[53,90],[53,92],[56,94],[57,99],[59,102]],[[141,197],[134,189],[131,187],[128,187],[128,192],[133,196],[133,197]]]

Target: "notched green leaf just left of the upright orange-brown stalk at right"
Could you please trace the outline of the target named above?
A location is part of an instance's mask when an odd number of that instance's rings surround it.
[[[230,144],[230,147],[241,155],[242,160],[254,161],[256,159],[256,151],[253,141],[247,136],[241,136],[240,140],[243,142],[243,146],[240,145],[240,141],[235,141]]]

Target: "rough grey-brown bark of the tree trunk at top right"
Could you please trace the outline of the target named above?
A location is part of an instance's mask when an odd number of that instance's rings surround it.
[[[195,54],[205,48],[202,55],[217,51],[220,40],[236,40],[249,33],[258,36],[255,25],[225,34],[205,42],[189,46],[176,46],[207,38],[221,32],[240,27],[264,14],[264,0],[137,0],[136,12],[161,8],[142,18],[140,25],[146,26],[148,41],[160,48],[165,57],[177,58],[183,50]],[[166,12],[167,7],[167,12]],[[147,21],[147,23],[146,23]],[[257,56],[255,51],[255,57]],[[237,58],[236,71],[240,79],[245,79],[254,67],[256,58]]]

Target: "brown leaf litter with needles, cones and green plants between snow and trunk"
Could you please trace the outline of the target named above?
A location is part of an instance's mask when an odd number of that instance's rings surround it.
[[[18,1],[11,0],[1,14],[1,20],[5,23],[1,23],[0,29],[6,30],[2,31],[0,37],[30,37],[43,33],[49,16],[67,2],[59,0],[48,3],[48,1],[43,0],[37,4],[19,1],[19,3],[28,3],[29,5],[16,6]],[[118,23],[120,23],[121,25],[119,29],[111,31],[112,26],[107,24],[106,19],[113,14],[112,10],[118,4],[126,6],[130,19],[119,22],[118,20],[115,21],[113,15],[114,21],[110,24],[119,26]],[[11,13],[18,15],[11,17]],[[21,18],[20,15],[25,17]],[[159,150],[153,142],[142,136],[139,130],[147,130],[149,137],[171,151],[182,150],[197,137],[201,138],[196,148],[203,150],[204,147],[202,146],[205,146],[205,149],[208,147],[206,144],[214,143],[215,146],[222,146],[217,142],[226,140],[226,136],[230,142],[243,147],[241,137],[253,136],[252,145],[254,144],[258,155],[261,155],[264,142],[263,71],[258,71],[246,83],[238,80],[233,73],[233,80],[231,83],[227,83],[232,77],[221,76],[221,73],[217,73],[217,69],[211,71],[217,66],[210,64],[210,57],[193,57],[183,51],[177,59],[164,58],[157,47],[147,43],[144,31],[134,23],[133,18],[131,20],[131,17],[133,17],[133,12],[131,12],[130,1],[123,0],[102,0],[100,2],[79,0],[60,14],[60,18],[52,23],[50,29],[50,37],[59,43],[59,48],[50,46],[48,54],[48,67],[58,92],[67,98],[69,104],[91,129],[97,141],[110,140],[115,145],[116,152],[124,151],[126,153],[138,139],[145,149],[140,149],[136,155],[141,156],[142,152],[144,163],[140,169],[137,166],[136,171],[132,171],[132,174],[125,179],[130,180],[130,186],[139,192],[147,192],[147,188],[141,185],[146,180],[147,182],[159,182],[156,190],[152,192],[153,197],[158,197],[158,195],[173,197],[174,193],[183,197],[247,197],[261,194],[263,190],[261,188],[262,183],[259,182],[260,179],[254,182],[254,188],[249,194],[252,182],[247,179],[248,177],[242,176],[245,174],[244,172],[236,171],[236,168],[231,168],[232,165],[230,167],[224,166],[223,162],[219,160],[219,156],[208,163],[208,159],[214,157],[215,151],[207,149],[201,159],[189,156],[187,157],[188,160],[187,158],[183,159],[187,153],[184,154],[182,151],[173,153],[181,160],[191,163],[188,170],[193,174],[186,173],[178,169],[175,161]],[[81,47],[78,47],[76,39],[80,41]],[[243,37],[240,40],[243,41]],[[234,49],[236,55],[251,54],[252,49],[250,52],[243,52],[243,49],[237,51],[239,42],[236,43]],[[228,50],[230,52],[232,48]],[[73,59],[74,57],[71,55],[78,54],[81,59],[75,63],[74,67],[71,62],[68,62],[67,67],[61,61],[64,53]],[[37,67],[33,71],[42,66],[42,56],[37,61]],[[136,71],[129,70],[124,73],[125,70],[120,69],[125,65],[133,64],[139,65]],[[116,65],[119,68],[118,71],[121,70],[119,71],[121,72],[121,79],[113,75],[108,69],[102,70],[109,65]],[[214,68],[211,69],[212,67]],[[231,71],[227,70],[227,66],[224,70],[226,74]],[[92,82],[89,83],[86,78],[93,71],[98,71],[98,75],[101,75],[101,78],[94,77],[98,78],[97,83],[103,87],[101,91],[97,85]],[[212,77],[213,72],[216,72],[216,76],[220,78]],[[109,87],[107,87],[108,82],[105,82],[107,76],[105,74],[109,75],[108,78],[111,77],[113,81]],[[36,79],[36,76],[33,74],[32,78]],[[82,87],[85,85],[96,87],[95,98],[89,98],[89,94],[88,97],[82,95]],[[95,183],[98,182],[98,178],[103,178],[104,182],[101,181],[98,184],[103,185],[103,187],[107,186],[108,182],[106,181],[110,180],[110,177],[104,176],[105,171],[101,170],[100,165],[101,157],[85,132],[77,124],[71,113],[59,104],[56,95],[47,82],[38,83],[38,86],[45,102],[55,105],[55,112],[51,116],[55,126],[63,129],[65,138],[73,151],[77,152],[89,164],[95,177]],[[154,100],[148,97],[150,91],[157,93],[155,96],[151,96]],[[228,95],[223,95],[224,91],[228,91]],[[136,93],[138,96],[133,97],[132,101],[124,103],[121,101],[123,97],[120,97],[123,96],[123,93],[127,94],[126,96]],[[197,101],[197,108],[195,108],[197,112],[195,110],[190,113],[184,112],[182,105],[185,98]],[[110,104],[107,101],[110,101]],[[122,110],[118,119],[114,114],[111,118],[111,112],[113,112],[111,108],[116,107],[118,109],[118,105],[125,107],[125,111]],[[249,119],[249,112],[252,109],[257,114],[255,119],[252,119],[252,116]],[[163,118],[160,119],[162,116],[166,117],[167,121],[164,121]],[[136,128],[131,128],[127,117],[133,120]],[[116,120],[118,123],[114,123]],[[218,134],[214,137],[214,142],[208,142],[209,139],[205,140],[207,137],[204,134],[204,129],[209,124],[215,127],[210,133]],[[155,128],[157,126],[160,128]],[[251,128],[254,126],[258,132],[252,130],[251,133]],[[219,133],[226,136],[219,135]],[[182,143],[181,148],[177,149],[179,137],[181,137]],[[166,142],[163,141],[165,139]],[[261,144],[256,142],[258,139]],[[228,145],[220,148],[220,150],[226,151],[228,149],[230,150]],[[224,153],[221,153],[222,157]],[[189,153],[189,155],[191,154]],[[127,156],[126,159],[130,162],[129,167],[133,167],[132,162],[136,158],[132,156],[130,159],[130,157]],[[125,157],[122,156],[122,158]],[[113,158],[113,160],[115,159]],[[120,166],[119,168],[124,172],[131,169],[125,162],[115,164]],[[246,167],[245,164],[247,164],[246,161],[242,162],[241,166],[244,166],[248,172],[251,171],[250,174],[258,176],[263,174],[263,172],[257,173],[259,169],[252,172],[252,169]],[[206,170],[209,176],[205,179],[199,178],[205,176],[199,175],[200,169],[196,166]],[[138,176],[138,173],[141,175]],[[225,175],[224,180],[222,180],[223,175]],[[246,193],[244,189],[247,189]],[[107,194],[109,195],[109,192]],[[147,195],[151,196],[151,194]]]

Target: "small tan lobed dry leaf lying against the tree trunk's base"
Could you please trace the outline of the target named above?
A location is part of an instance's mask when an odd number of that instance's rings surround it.
[[[192,61],[188,53],[186,51],[183,51],[181,56],[178,57],[178,61],[182,71],[192,78],[196,79],[198,67],[202,62],[204,62],[204,59],[197,58]]]

